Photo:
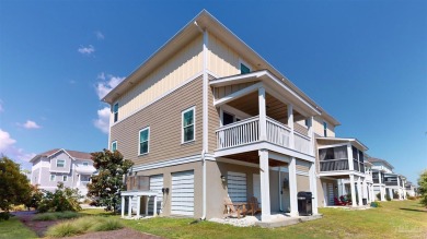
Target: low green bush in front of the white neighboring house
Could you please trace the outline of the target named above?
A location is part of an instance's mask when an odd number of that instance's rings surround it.
[[[55,192],[45,191],[37,210],[39,213],[80,211],[80,199],[78,189],[65,188],[62,182],[58,182],[58,189]]]

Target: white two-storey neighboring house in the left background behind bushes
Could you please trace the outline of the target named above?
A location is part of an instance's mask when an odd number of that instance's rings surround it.
[[[79,189],[81,195],[88,193],[86,184],[96,169],[91,154],[78,151],[55,148],[33,157],[31,183],[39,189],[55,191],[58,182],[65,187]]]

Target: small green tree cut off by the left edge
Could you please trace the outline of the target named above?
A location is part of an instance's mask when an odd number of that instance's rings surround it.
[[[20,165],[2,155],[0,158],[0,210],[9,212],[12,204],[27,202],[30,183],[25,175],[21,174]]]

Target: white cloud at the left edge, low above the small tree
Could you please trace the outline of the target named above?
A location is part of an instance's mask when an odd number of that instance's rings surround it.
[[[0,129],[0,154],[21,163],[27,163],[36,156],[34,153],[25,153],[24,150],[16,147],[15,143],[16,141],[7,131]]]

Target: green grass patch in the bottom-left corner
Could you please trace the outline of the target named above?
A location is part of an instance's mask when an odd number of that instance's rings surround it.
[[[37,238],[37,235],[25,227],[20,219],[11,217],[9,220],[0,222],[0,238]]]

